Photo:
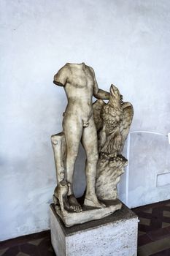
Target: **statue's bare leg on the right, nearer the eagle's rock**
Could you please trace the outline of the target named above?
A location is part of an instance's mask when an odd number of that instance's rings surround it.
[[[85,148],[87,157],[85,166],[87,187],[84,204],[85,206],[103,208],[105,206],[98,201],[95,192],[96,165],[98,162],[98,138],[93,118],[90,118],[88,127],[83,129],[82,146]]]

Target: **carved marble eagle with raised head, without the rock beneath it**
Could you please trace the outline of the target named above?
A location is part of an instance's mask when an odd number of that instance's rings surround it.
[[[112,85],[107,104],[102,99],[93,103],[93,116],[98,131],[98,152],[108,157],[120,156],[134,116],[131,103],[123,102],[120,91]]]

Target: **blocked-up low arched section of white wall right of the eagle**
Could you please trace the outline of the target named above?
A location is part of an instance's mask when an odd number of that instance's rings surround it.
[[[128,207],[169,199],[170,145],[167,135],[131,132],[126,144],[129,165],[119,186]]]

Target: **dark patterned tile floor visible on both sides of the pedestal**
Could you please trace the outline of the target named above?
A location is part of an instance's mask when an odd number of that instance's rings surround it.
[[[133,211],[140,219],[138,256],[170,256],[170,200]],[[48,255],[55,256],[49,230],[0,242],[0,256]]]

